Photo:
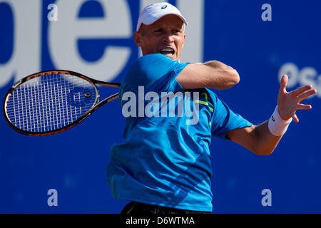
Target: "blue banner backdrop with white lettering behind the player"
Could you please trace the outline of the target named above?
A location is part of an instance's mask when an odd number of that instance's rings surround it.
[[[15,81],[49,69],[121,82],[140,56],[133,42],[139,13],[153,2],[0,0],[1,103]],[[270,118],[282,74],[287,90],[318,90],[305,101],[312,110],[297,111],[300,123],[290,124],[270,156],[213,138],[213,213],[320,213],[321,1],[168,2],[189,23],[182,61],[233,66],[240,83],[215,93],[252,123]],[[20,135],[0,115],[0,213],[119,213],[128,202],[111,196],[106,165],[124,122],[119,100],[45,137]],[[51,189],[57,206],[48,204]]]

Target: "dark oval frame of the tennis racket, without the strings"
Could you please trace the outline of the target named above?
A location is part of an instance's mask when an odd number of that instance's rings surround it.
[[[27,130],[21,130],[19,128],[16,128],[16,126],[13,123],[11,123],[11,121],[9,120],[9,116],[8,116],[8,114],[6,112],[6,110],[7,110],[6,109],[7,108],[7,102],[9,100],[11,94],[22,83],[25,83],[26,81],[29,81],[29,80],[31,80],[33,78],[39,78],[41,76],[46,76],[46,75],[51,75],[51,74],[64,74],[64,75],[77,76],[77,77],[83,78],[86,81],[88,81],[89,83],[91,83],[91,85],[93,86],[93,88],[94,88],[94,90],[96,92],[96,100],[94,101],[93,105],[91,106],[91,108],[86,113],[81,115],[80,118],[78,118],[77,120],[73,121],[72,123],[64,126],[63,128],[58,128],[56,130],[49,130],[49,131],[44,131],[44,132],[37,132],[37,133],[31,132],[31,131],[27,131]],[[6,123],[8,123],[11,128],[16,130],[16,132],[24,134],[24,135],[45,136],[45,135],[54,135],[56,133],[61,133],[61,132],[65,131],[65,130],[68,130],[68,129],[73,128],[74,126],[78,125],[83,120],[88,118],[88,116],[91,115],[91,113],[93,113],[95,110],[100,108],[102,105],[110,102],[111,100],[115,100],[116,98],[119,97],[119,93],[115,93],[115,94],[109,96],[108,98],[105,98],[100,103],[98,103],[99,102],[99,98],[100,98],[100,93],[99,93],[99,90],[98,90],[96,85],[109,86],[109,87],[120,87],[121,83],[108,83],[108,82],[104,82],[104,81],[98,81],[96,79],[89,78],[87,76],[83,76],[80,73],[77,73],[77,72],[74,72],[74,71],[68,71],[68,70],[51,70],[51,71],[41,71],[41,72],[38,72],[38,73],[33,73],[33,74],[29,75],[29,76],[26,76],[25,78],[21,78],[21,80],[19,80],[16,83],[14,83],[14,86],[12,86],[9,89],[8,93],[6,93],[6,97],[4,98],[4,105],[3,105],[4,118],[6,120]]]

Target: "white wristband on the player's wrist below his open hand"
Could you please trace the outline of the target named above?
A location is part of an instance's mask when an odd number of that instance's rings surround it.
[[[274,113],[272,114],[268,123],[270,133],[275,136],[283,135],[287,131],[287,127],[289,126],[291,121],[292,118],[288,120],[282,120],[276,106]]]

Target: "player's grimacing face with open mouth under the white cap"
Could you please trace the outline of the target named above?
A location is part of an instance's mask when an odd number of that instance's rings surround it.
[[[183,26],[183,21],[178,16],[166,15],[149,26],[142,24],[140,31],[134,33],[134,39],[141,47],[143,56],[161,53],[180,61],[185,42]]]

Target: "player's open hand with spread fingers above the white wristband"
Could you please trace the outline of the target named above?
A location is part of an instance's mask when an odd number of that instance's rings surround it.
[[[301,104],[302,100],[309,98],[317,93],[317,90],[312,89],[312,86],[302,86],[291,92],[287,92],[287,75],[282,76],[280,81],[280,90],[277,95],[277,107],[282,120],[292,119],[297,123],[299,119],[295,112],[299,109],[311,109],[311,105]]]

